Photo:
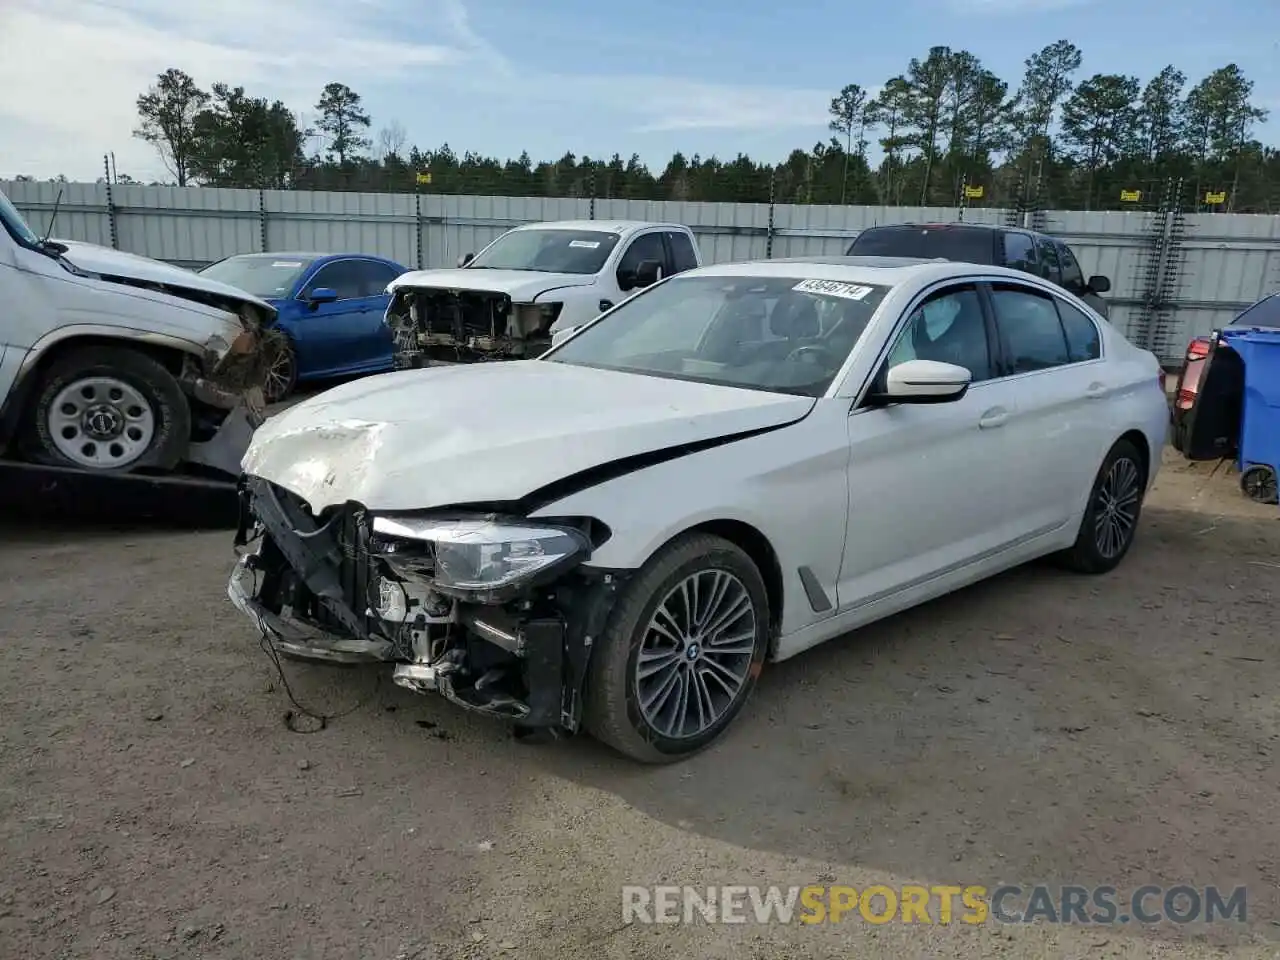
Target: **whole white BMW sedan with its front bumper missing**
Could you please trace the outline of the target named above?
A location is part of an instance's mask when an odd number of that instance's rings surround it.
[[[228,589],[284,655],[669,762],[768,662],[1036,557],[1114,568],[1167,420],[1156,357],[1023,273],[701,268],[538,360],[269,420]]]

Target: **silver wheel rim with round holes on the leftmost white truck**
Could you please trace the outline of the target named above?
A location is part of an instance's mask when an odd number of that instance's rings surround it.
[[[115,376],[86,376],[64,387],[49,406],[46,425],[55,449],[91,470],[129,466],[156,435],[147,398]]]

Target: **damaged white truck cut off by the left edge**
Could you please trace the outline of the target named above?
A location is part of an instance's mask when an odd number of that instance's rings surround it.
[[[3,458],[238,475],[278,337],[269,303],[159,260],[42,238],[0,192],[0,305]]]

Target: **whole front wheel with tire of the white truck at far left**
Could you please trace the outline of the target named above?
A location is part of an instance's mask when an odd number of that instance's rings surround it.
[[[28,411],[33,458],[58,466],[169,471],[191,443],[191,407],[178,381],[128,347],[88,347],[54,361]]]

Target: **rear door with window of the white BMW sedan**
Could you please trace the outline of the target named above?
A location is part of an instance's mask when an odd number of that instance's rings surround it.
[[[1016,392],[1005,430],[1004,468],[1018,477],[1007,508],[1029,538],[1075,516],[1101,462],[1096,404],[1108,396],[1101,333],[1064,298],[1029,284],[992,283],[988,296]]]

